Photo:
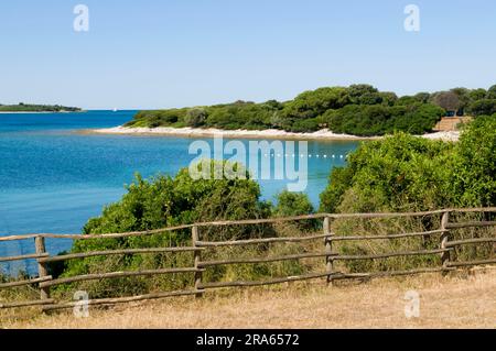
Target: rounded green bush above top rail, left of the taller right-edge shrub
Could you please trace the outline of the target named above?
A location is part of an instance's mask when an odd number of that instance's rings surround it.
[[[446,165],[453,146],[398,133],[363,143],[335,168],[321,195],[321,211],[425,210],[446,201]]]

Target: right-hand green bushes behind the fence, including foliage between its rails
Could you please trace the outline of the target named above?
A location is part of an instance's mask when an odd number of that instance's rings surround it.
[[[363,143],[345,167],[334,168],[321,195],[325,212],[398,212],[496,205],[496,114],[468,123],[459,143],[443,143],[397,133],[381,141]],[[490,215],[452,215],[452,221],[494,220]],[[487,217],[489,216],[489,217]],[[336,220],[333,232],[387,235],[440,228],[440,216],[417,219]],[[494,237],[494,229],[451,231],[451,240]],[[337,252],[351,255],[391,251],[438,249],[439,237],[342,242]],[[494,255],[494,248],[460,248],[461,261]],[[439,256],[391,257],[349,261],[351,272],[439,267]]]

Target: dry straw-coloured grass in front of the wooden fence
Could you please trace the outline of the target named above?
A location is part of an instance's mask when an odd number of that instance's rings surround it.
[[[421,296],[420,317],[405,316],[407,290]],[[3,314],[3,315],[2,315]],[[12,314],[12,312],[10,312]],[[206,298],[13,317],[0,312],[4,328],[495,328],[496,271],[422,275],[347,283],[320,282],[276,288],[231,289]]]

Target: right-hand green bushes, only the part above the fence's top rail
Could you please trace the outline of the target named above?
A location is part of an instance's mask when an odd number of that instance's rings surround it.
[[[456,144],[397,133],[363,143],[334,168],[321,211],[429,210],[496,205],[496,114],[468,123]]]

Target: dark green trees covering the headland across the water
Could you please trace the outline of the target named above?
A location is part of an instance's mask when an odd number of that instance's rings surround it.
[[[370,85],[324,87],[293,100],[233,103],[140,111],[126,127],[278,129],[289,132],[333,132],[359,136],[397,131],[423,134],[445,116],[496,113],[496,85],[488,90],[454,88],[434,94],[398,97]]]

